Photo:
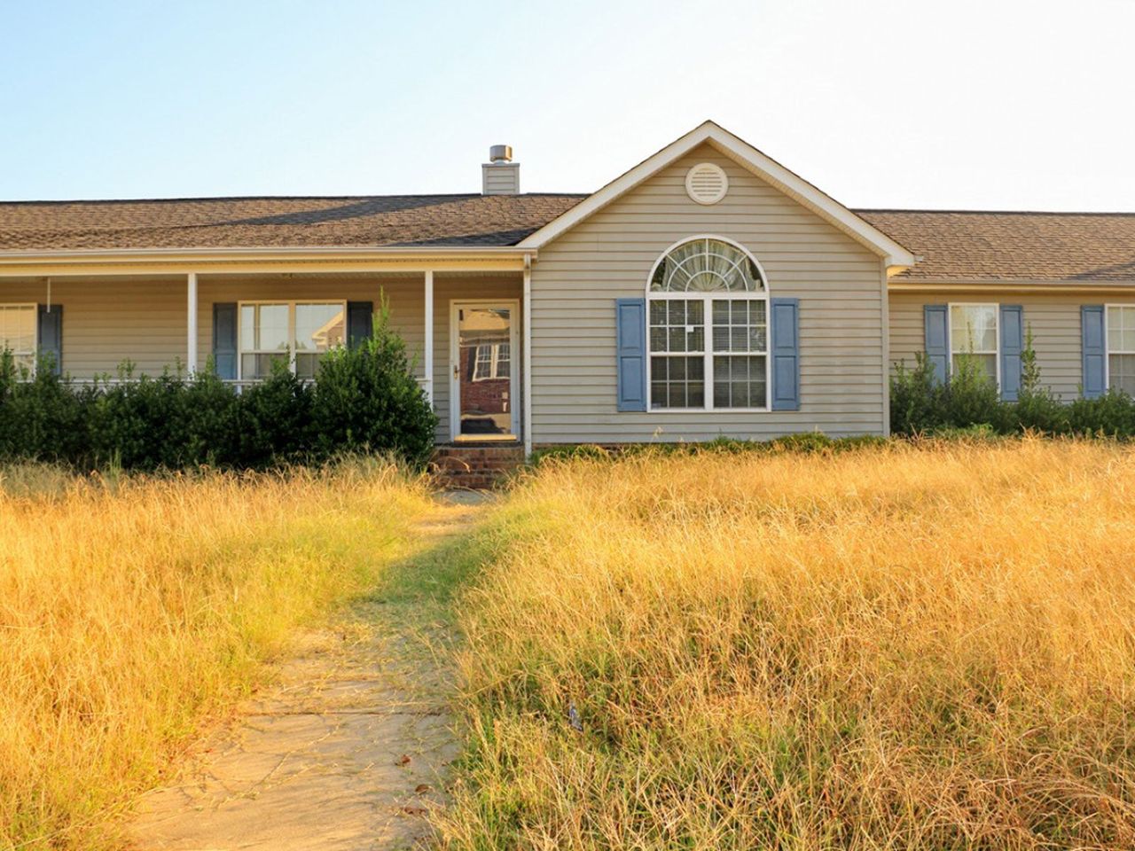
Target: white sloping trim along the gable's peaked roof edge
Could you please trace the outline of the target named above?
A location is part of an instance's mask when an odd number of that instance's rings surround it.
[[[856,216],[843,204],[821,192],[810,183],[793,174],[749,143],[738,138],[713,121],[705,121],[684,136],[671,142],[653,157],[640,162],[630,171],[615,178],[602,189],[571,210],[557,216],[536,233],[518,243],[520,248],[540,248],[557,236],[575,227],[661,169],[684,157],[698,145],[709,143],[738,165],[753,171],[757,177],[772,184],[781,192],[804,204],[817,216],[839,227],[848,236],[871,248],[886,260],[888,267],[911,267],[915,255],[866,219]]]

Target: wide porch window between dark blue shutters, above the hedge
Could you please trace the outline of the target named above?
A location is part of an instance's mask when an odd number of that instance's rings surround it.
[[[271,373],[279,361],[314,378],[319,360],[346,340],[346,302],[242,302],[238,378]]]

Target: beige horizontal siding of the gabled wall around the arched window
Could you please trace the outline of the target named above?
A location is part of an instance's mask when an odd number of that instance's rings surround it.
[[[704,207],[686,174],[715,162],[729,194]],[[800,300],[800,410],[619,412],[615,298],[641,297],[672,244],[720,235],[746,246],[772,297]],[[532,438],[541,443],[770,438],[819,429],[882,433],[878,256],[748,170],[703,146],[540,250],[532,271]]]

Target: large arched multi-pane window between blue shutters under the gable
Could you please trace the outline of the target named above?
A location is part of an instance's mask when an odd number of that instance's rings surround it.
[[[718,236],[686,239],[647,280],[650,407],[768,407],[768,287]],[[707,391],[708,388],[708,391]]]

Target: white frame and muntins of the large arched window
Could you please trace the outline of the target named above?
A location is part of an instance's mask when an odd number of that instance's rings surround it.
[[[763,288],[755,293],[732,293],[729,290],[721,290],[717,293],[669,293],[669,292],[655,292],[650,289],[650,281],[654,280],[654,273],[658,269],[658,264],[663,263],[670,252],[680,245],[686,245],[687,243],[692,243],[698,239],[714,239],[716,242],[725,243],[726,245],[732,245],[738,251],[742,252],[749,260],[753,261],[754,266],[757,267],[757,271],[760,275],[760,283]],[[741,245],[734,239],[729,237],[718,236],[717,234],[693,234],[691,236],[686,236],[672,244],[664,252],[658,255],[658,259],[654,261],[650,266],[650,273],[646,276],[646,394],[647,394],[647,411],[651,414],[688,414],[688,413],[712,413],[714,411],[728,411],[730,413],[742,413],[742,414],[763,414],[768,413],[772,410],[772,393],[773,393],[773,356],[772,356],[772,342],[773,342],[773,313],[772,313],[772,302],[768,297],[768,276],[765,273],[765,269],[760,266],[760,261],[753,256],[753,252]],[[700,301],[703,302],[701,307],[701,323],[703,334],[705,337],[705,352],[703,353],[705,372],[705,405],[701,407],[657,407],[654,404],[653,397],[653,382],[650,380],[650,362],[654,357],[654,352],[650,351],[650,302],[651,301],[672,301],[672,300],[686,300],[686,301]],[[713,349],[713,302],[715,301],[763,301],[765,303],[765,404],[760,407],[715,407],[713,404],[713,357],[715,354],[730,355],[738,354],[740,356],[762,356],[760,353],[754,352],[714,352]],[[659,353],[659,356],[663,353]]]

